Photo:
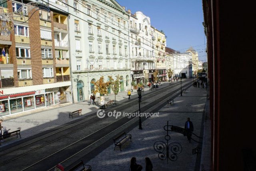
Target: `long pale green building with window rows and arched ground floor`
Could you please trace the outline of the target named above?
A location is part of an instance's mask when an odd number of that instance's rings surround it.
[[[68,4],[74,7],[68,10],[74,101],[88,100],[95,90],[92,81],[101,76],[107,81],[119,74],[120,91],[130,89],[128,13],[114,0]]]

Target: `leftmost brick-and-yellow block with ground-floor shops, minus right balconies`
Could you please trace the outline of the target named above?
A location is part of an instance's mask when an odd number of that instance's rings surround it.
[[[0,36],[0,116],[72,101],[70,80],[56,79],[53,12],[12,0],[6,7],[22,16],[14,13],[10,36]]]

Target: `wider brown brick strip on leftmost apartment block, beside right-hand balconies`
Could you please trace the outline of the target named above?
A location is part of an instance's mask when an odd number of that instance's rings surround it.
[[[29,12],[29,41],[30,41],[30,56],[32,64],[33,85],[43,84],[42,73],[42,56],[41,56],[41,35],[40,35],[40,19],[39,10],[33,9]],[[33,15],[32,15],[33,14]]]

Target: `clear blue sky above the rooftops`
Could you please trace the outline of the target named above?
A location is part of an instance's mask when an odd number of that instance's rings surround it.
[[[151,25],[163,30],[167,47],[180,52],[190,46],[198,52],[199,60],[207,60],[205,48],[202,0],[116,0],[132,14],[141,11],[150,17]]]

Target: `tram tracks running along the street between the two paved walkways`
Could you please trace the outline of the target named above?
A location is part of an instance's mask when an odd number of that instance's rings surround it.
[[[185,81],[184,81],[185,82]],[[183,83],[184,83],[183,82]],[[190,80],[186,80],[186,83],[188,82],[188,84],[186,85],[191,85],[190,84]],[[163,87],[161,88],[161,93],[159,91],[153,91],[151,93],[148,93],[146,95],[143,96],[144,99],[149,99],[147,97],[156,97],[156,96],[160,96],[160,97],[157,97],[156,100],[153,100],[151,102],[148,102],[147,104],[145,105],[142,105],[141,106],[141,112],[145,112],[145,111],[148,111],[149,109],[151,109],[152,107],[156,106],[158,103],[161,103],[162,101],[166,100],[166,98],[168,98],[170,95],[173,95],[174,93],[177,93],[177,91],[179,91],[179,84],[172,84],[172,88],[174,88],[171,92],[166,92],[166,94],[164,95],[161,95],[162,93],[164,93],[165,91],[164,90],[168,90],[170,89],[170,86],[167,86],[167,87]],[[186,86],[184,85],[184,86]],[[178,88],[175,88],[175,87],[178,87]],[[109,112],[109,111],[123,111],[124,109],[128,109],[129,107],[134,109],[134,105],[137,105],[138,104],[138,100],[137,99],[133,99],[132,101],[130,101],[129,103],[124,103],[123,105],[118,105],[116,107],[113,107],[109,110],[106,110],[106,113]],[[150,106],[150,108],[149,108]],[[131,113],[136,113],[136,111],[138,111],[138,109],[136,110],[130,110]],[[94,120],[95,119],[95,120]],[[90,119],[86,119],[85,121],[81,122],[81,123],[78,123],[78,124],[75,124],[75,125],[72,125],[71,127],[67,127],[65,129],[62,129],[61,131],[58,131],[56,133],[53,133],[51,135],[48,135],[46,137],[43,137],[41,139],[38,139],[36,141],[33,141],[31,143],[28,143],[26,145],[23,145],[22,147],[20,148],[16,148],[16,149],[13,149],[12,151],[9,151],[9,152],[6,152],[6,153],[3,153],[0,155],[0,161],[3,161],[1,164],[0,164],[0,167],[1,166],[4,166],[4,165],[8,165],[13,163],[12,161],[16,161],[15,163],[20,163],[19,158],[22,158],[26,155],[36,155],[34,154],[35,152],[36,153],[44,153],[45,151],[47,151],[47,148],[48,147],[54,147],[56,144],[60,145],[62,144],[63,145],[63,148],[60,148],[60,149],[57,149],[56,151],[50,151],[51,154],[46,154],[46,155],[40,155],[40,159],[34,163],[30,163],[28,165],[26,165],[22,170],[33,170],[35,167],[36,168],[41,168],[44,166],[44,163],[45,161],[47,161],[48,165],[56,165],[56,160],[54,159],[59,159],[58,163],[60,163],[60,161],[66,161],[66,159],[69,159],[70,158],[70,155],[71,156],[74,156],[76,155],[76,153],[80,153],[81,151],[84,151],[85,149],[87,149],[88,147],[90,147],[92,144],[100,141],[102,138],[110,135],[110,133],[120,129],[123,125],[126,125],[127,123],[130,123],[131,121],[133,121],[134,119],[136,119],[136,117],[131,117],[131,118],[128,118],[128,117],[121,117],[120,119],[113,119],[112,117],[104,117],[102,119],[98,118],[97,116],[95,117],[92,117]],[[86,126],[83,126],[84,123],[87,123],[88,121],[94,121],[93,123],[91,124],[88,124]],[[100,122],[101,121],[101,122]],[[84,135],[82,138],[77,138],[77,134],[79,131],[79,135],[81,135],[81,131],[83,131],[85,128],[87,127],[96,127],[94,129],[96,129],[96,131],[92,131],[91,133],[88,132],[87,135]],[[74,131],[69,131],[69,129],[75,129]],[[64,133],[66,131],[66,135],[63,135],[63,136],[60,136],[58,137],[57,139],[55,138],[54,140],[52,141],[48,141],[46,142],[46,144],[44,145],[39,145],[39,147],[36,147],[32,150],[28,150],[26,151],[25,153],[22,153],[20,154],[19,150],[20,151],[25,151],[25,149],[21,150],[22,148],[24,147],[28,147],[30,149],[31,145],[33,143],[36,143],[36,142],[42,142],[42,140],[44,141],[47,141],[46,138],[50,138],[51,136],[54,136],[54,135],[58,135],[58,133]],[[96,136],[97,135],[97,136]],[[98,138],[100,137],[100,138]],[[67,140],[68,139],[68,140]],[[64,140],[64,141],[61,141],[61,140]],[[71,141],[73,140],[73,141]],[[62,143],[62,142],[65,142],[65,143]],[[37,144],[36,144],[37,145]],[[36,146],[35,145],[35,146]],[[66,146],[64,146],[66,145]],[[30,146],[30,147],[29,147]],[[86,146],[86,147],[84,147]],[[74,153],[72,150],[73,149],[76,149],[76,153]],[[64,151],[64,154],[66,155],[63,155],[63,153],[60,153],[62,151]],[[17,151],[17,155],[16,157],[13,157],[13,155],[15,154],[14,152]],[[67,151],[69,151],[67,153]],[[9,157],[8,154],[12,153],[12,159],[8,159]],[[1,158],[4,157],[2,160]],[[49,168],[49,167],[48,167]]]

